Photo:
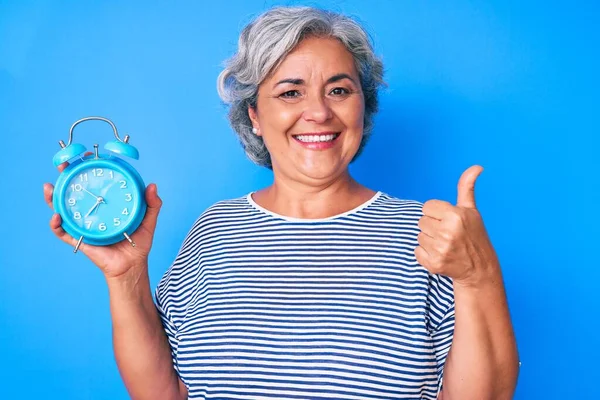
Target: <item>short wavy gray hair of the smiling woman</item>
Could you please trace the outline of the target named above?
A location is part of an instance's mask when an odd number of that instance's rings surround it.
[[[248,24],[240,34],[238,52],[227,60],[217,79],[217,90],[230,106],[229,122],[247,156],[271,168],[271,156],[262,137],[252,133],[248,107],[255,108],[259,84],[276,69],[302,39],[309,36],[340,40],[354,57],[365,101],[363,137],[354,158],[364,148],[378,109],[383,63],[374,54],[365,30],[354,20],[312,7],[276,7]]]

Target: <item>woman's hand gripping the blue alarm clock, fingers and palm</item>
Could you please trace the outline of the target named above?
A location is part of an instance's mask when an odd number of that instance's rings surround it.
[[[68,163],[63,163],[58,167],[58,170],[62,172],[67,166]],[[53,185],[49,183],[44,184],[44,199],[52,209],[53,191]],[[162,201],[158,197],[155,184],[148,185],[145,197],[147,204],[146,215],[138,229],[131,235],[131,239],[135,242],[135,247],[127,240],[110,246],[93,246],[81,243],[79,247],[79,251],[92,260],[102,270],[107,279],[118,278],[132,268],[145,268],[148,265],[148,254],[152,247],[156,220],[162,206]],[[60,240],[75,247],[77,239],[70,236],[61,227],[59,214],[54,214],[50,219],[50,228]]]

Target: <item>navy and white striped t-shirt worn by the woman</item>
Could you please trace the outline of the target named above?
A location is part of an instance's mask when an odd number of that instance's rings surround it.
[[[156,289],[189,398],[436,399],[454,297],[415,259],[421,215],[381,192],[317,220],[207,209]]]

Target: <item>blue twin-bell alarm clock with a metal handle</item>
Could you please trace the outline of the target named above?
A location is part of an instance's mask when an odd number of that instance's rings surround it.
[[[84,155],[82,144],[72,143],[73,130],[85,121],[98,120],[110,124],[115,140],[104,149],[107,154]],[[63,229],[81,243],[107,246],[128,240],[140,226],[146,213],[145,185],[140,174],[120,157],[139,159],[138,150],[129,144],[129,135],[119,137],[115,124],[103,117],[86,117],[76,121],[69,131],[65,145],[53,158],[54,166],[70,161],[59,175],[54,187],[54,210],[62,218]]]

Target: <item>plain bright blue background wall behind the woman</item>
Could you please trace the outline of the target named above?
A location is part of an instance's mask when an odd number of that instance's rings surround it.
[[[164,201],[153,287],[195,218],[270,181],[230,130],[215,80],[273,1],[0,0],[0,398],[126,399],[105,282],[48,229],[42,183],[70,125],[111,118]],[[294,3],[284,3],[294,4]],[[500,256],[523,362],[517,399],[598,395],[600,5],[322,1],[370,30],[386,66],[368,186],[478,205]],[[91,148],[101,122],[76,129]]]

